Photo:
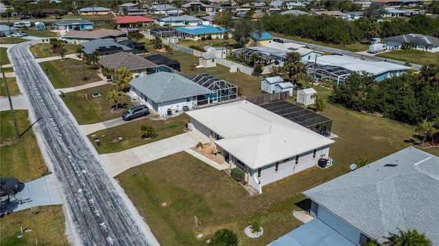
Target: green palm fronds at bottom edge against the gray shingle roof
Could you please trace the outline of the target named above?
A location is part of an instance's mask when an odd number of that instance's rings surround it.
[[[416,230],[398,230],[398,234],[390,233],[388,241],[384,242],[385,245],[390,246],[431,246],[431,241],[425,236],[425,234],[420,234]]]

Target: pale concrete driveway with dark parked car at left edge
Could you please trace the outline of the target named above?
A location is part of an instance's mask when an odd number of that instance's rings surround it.
[[[8,203],[5,201],[8,196],[1,197],[1,214],[9,214],[36,206],[62,204],[60,188],[54,174],[27,182],[21,188],[19,193],[10,197]]]

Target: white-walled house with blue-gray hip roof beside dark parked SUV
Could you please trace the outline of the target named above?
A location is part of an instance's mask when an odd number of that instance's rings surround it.
[[[166,72],[132,79],[130,90],[150,110],[154,109],[161,116],[182,111],[184,106],[197,108],[198,101],[209,98],[212,93],[212,90],[190,79]]]

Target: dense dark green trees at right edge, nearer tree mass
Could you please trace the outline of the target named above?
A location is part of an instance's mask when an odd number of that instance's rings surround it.
[[[332,103],[369,113],[380,113],[401,123],[416,125],[439,118],[439,65],[424,65],[380,82],[368,73],[352,73],[344,85],[335,86]]]

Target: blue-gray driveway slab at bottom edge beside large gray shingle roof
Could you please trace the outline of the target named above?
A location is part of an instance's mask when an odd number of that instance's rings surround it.
[[[281,236],[267,246],[355,246],[329,225],[313,219],[296,230]]]

